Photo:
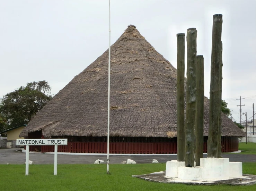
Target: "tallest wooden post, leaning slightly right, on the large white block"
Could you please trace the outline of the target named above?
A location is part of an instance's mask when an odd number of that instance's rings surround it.
[[[207,141],[207,157],[218,158],[219,115],[220,115],[220,51],[221,51],[222,14],[213,16],[212,58],[210,85],[210,116]]]

